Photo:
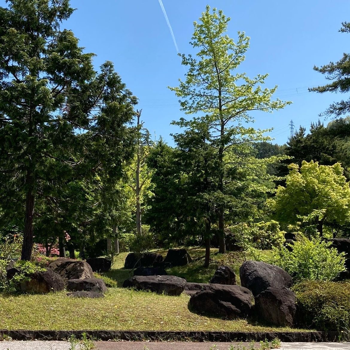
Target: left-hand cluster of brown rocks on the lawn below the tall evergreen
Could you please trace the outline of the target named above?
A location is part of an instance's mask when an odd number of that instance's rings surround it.
[[[95,271],[107,271],[111,264],[108,259],[90,259]],[[19,273],[16,268],[9,268],[7,279]],[[103,297],[107,288],[102,279],[95,278],[90,264],[83,260],[58,258],[51,262],[45,271],[36,272],[28,276],[28,280],[19,285],[23,293],[46,294],[59,292],[65,288],[72,297]]]

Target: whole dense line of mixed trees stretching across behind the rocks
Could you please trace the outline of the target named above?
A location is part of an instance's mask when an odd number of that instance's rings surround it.
[[[267,74],[240,72],[249,37],[234,41],[230,19],[207,6],[190,42],[197,54],[180,55],[187,73],[170,87],[191,118],[173,121],[174,147],[152,141],[112,62],[97,71],[94,54],[61,29],[72,12],[69,0],[0,8],[0,235],[23,234],[23,260],[34,243],[84,257],[98,241],[111,252],[114,239],[118,252],[118,237],[133,232],[163,246],[205,245],[208,265],[213,241],[226,251],[225,228],[266,231],[271,219],[286,231],[346,235],[350,119],[339,116],[348,102],[327,110],[338,117],[327,126],[272,144],[268,129],[246,126],[250,112],[289,102],[263,87]],[[311,90],[348,91],[348,64],[344,54],[315,67],[335,81]]]

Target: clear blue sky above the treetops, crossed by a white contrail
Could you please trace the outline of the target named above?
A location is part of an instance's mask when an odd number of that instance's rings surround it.
[[[269,73],[267,87],[279,86],[275,96],[293,104],[272,114],[254,115],[256,128],[274,128],[273,142],[283,144],[289,122],[308,126],[328,105],[347,98],[342,94],[317,94],[308,87],[323,85],[314,65],[337,61],[349,51],[349,34],[338,33],[342,21],[350,21],[350,2],[344,0],[163,0],[181,53],[193,52],[189,41],[205,6],[222,9],[231,17],[228,34],[237,31],[251,37],[246,61],[239,67],[252,77]],[[114,62],[127,87],[139,98],[145,126],[158,138],[173,144],[170,125],[183,113],[167,86],[184,76],[180,57],[158,0],[71,0],[77,10],[63,24],[72,29],[94,63]],[[327,121],[325,122],[327,123]]]

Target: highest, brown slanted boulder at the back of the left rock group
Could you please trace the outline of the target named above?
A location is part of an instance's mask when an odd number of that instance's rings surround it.
[[[91,266],[83,260],[58,258],[48,268],[58,273],[65,283],[72,279],[94,278]]]

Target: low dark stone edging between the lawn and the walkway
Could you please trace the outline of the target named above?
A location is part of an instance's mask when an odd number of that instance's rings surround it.
[[[337,342],[339,332],[210,332],[210,331],[113,331],[113,330],[0,330],[13,340],[64,340],[71,335],[81,338],[86,332],[88,337],[97,340],[127,341],[195,341],[195,342],[233,342],[261,341],[279,338],[282,342]]]

